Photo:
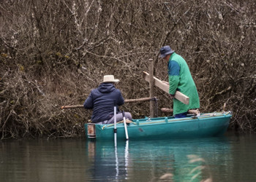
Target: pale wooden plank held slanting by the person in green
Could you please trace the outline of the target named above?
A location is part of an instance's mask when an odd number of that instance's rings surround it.
[[[146,80],[146,82],[149,82],[149,74],[146,71],[143,71],[143,78]],[[154,77],[154,85],[159,87],[159,89],[169,93],[169,84],[162,82],[162,80],[157,79],[156,77]],[[174,98],[176,98],[177,100],[180,100],[181,103],[184,103],[187,105],[189,104],[189,97],[179,91],[175,92]]]

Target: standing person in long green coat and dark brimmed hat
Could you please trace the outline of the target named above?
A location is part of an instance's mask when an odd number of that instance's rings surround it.
[[[189,71],[186,60],[176,54],[170,46],[160,49],[160,58],[168,62],[169,94],[173,99],[173,115],[176,118],[186,117],[187,111],[192,108],[200,108],[197,87]],[[189,105],[181,103],[174,98],[176,90],[189,97]]]

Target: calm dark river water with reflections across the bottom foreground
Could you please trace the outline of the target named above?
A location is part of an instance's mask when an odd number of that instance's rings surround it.
[[[256,135],[0,141],[0,181],[256,181]]]

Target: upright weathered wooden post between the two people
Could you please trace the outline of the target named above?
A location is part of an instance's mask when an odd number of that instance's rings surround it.
[[[154,97],[154,62],[153,59],[149,59],[149,97]],[[150,101],[149,105],[150,117],[154,117],[154,100]]]

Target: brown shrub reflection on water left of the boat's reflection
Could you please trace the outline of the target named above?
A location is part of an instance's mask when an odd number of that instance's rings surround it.
[[[89,178],[83,140],[0,141],[0,181],[80,181]]]

